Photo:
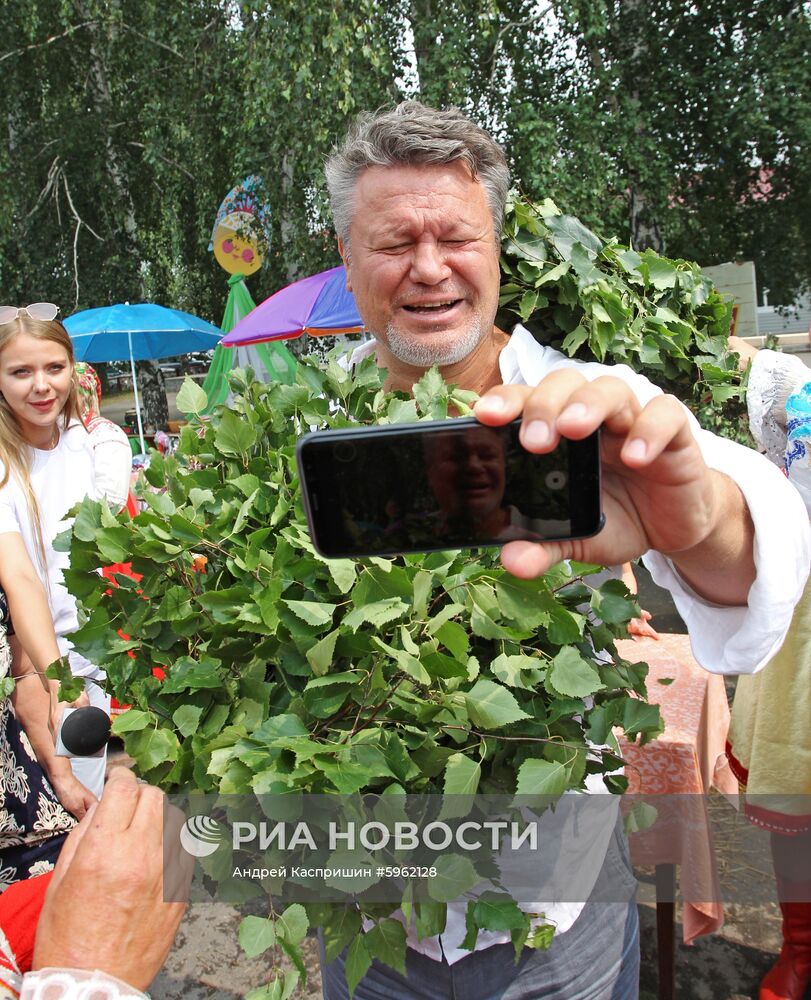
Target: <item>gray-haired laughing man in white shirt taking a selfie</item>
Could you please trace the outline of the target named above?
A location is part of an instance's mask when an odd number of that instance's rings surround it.
[[[521,326],[495,326],[509,172],[491,137],[457,109],[407,101],[363,115],[326,173],[347,285],[373,338],[356,360],[374,354],[387,386],[406,392],[438,365],[447,382],[483,396],[482,423],[521,417],[532,452],[603,429],[604,529],[577,541],[509,542],[505,568],[528,578],[562,559],[618,567],[644,555],[699,662],[731,674],[764,666],[808,575],[802,502],[761,456],[701,430],[626,366],[578,363]],[[617,872],[630,881],[616,829],[585,860],[595,859],[593,884]],[[556,933],[547,951],[525,948],[517,964],[509,933],[461,948],[465,908],[451,905],[438,937],[420,941],[409,929],[405,977],[374,962],[355,996],[636,997],[638,922],[627,898],[530,905]],[[324,965],[323,983],[328,1000],[348,995],[342,957]]]

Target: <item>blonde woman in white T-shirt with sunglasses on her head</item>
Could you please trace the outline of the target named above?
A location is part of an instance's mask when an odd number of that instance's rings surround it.
[[[92,449],[77,406],[73,345],[58,312],[51,303],[0,306],[0,586],[37,669],[23,631],[44,586],[60,653],[69,656],[74,674],[86,678],[91,704],[109,711],[109,698],[95,683],[100,671],[71,647],[78,618],[62,580],[69,557],[52,544],[70,508],[96,496]],[[100,795],[104,758],[73,765],[80,781]]]

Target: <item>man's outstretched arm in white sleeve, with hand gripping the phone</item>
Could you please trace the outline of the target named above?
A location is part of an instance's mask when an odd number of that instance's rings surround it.
[[[701,430],[678,400],[623,366],[567,365],[534,389],[498,386],[476,404],[491,425],[521,415],[523,443],[537,453],[604,425],[606,525],[591,539],[511,542],[504,566],[532,577],[562,559],[621,565],[644,555],[673,595],[700,663],[749,673],[768,662],[811,562],[808,518],[785,476],[751,449]]]

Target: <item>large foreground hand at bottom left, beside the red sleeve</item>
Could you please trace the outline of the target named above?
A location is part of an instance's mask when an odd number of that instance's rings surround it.
[[[126,768],[113,770],[103,799],[56,864],[37,927],[35,970],[100,969],[139,990],[149,986],[186,908],[163,901],[163,803],[157,788],[139,785]],[[194,862],[180,847],[179,825],[167,831],[168,854],[187,887]]]

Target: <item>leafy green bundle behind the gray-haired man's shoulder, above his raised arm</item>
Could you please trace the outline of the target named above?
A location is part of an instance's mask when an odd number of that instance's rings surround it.
[[[684,401],[709,430],[751,443],[745,381],[727,351],[731,305],[697,264],[605,239],[549,199],[513,198],[501,324],[569,357],[610,359]]]

